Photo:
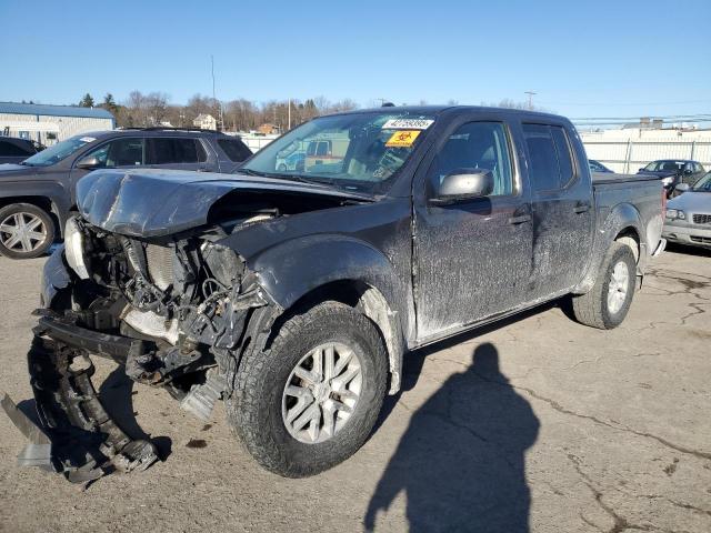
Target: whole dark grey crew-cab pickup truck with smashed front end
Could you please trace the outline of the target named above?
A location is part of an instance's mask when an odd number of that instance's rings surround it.
[[[501,109],[322,117],[233,177],[99,170],[77,198],[29,352],[42,428],[3,401],[21,462],[72,481],[156,460],[91,356],[201,419],[224,401],[261,465],[306,476],[363,444],[408,351],[565,295],[614,328],[664,244],[659,179],[598,181],[567,119]]]

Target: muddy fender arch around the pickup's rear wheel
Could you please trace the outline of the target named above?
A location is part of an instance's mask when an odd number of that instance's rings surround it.
[[[590,263],[582,281],[572,290],[575,294],[584,294],[592,289],[605,253],[610,249],[612,241],[614,241],[622,230],[632,228],[637,232],[640,240],[640,262],[643,261],[647,254],[647,230],[643,228],[642,218],[634,205],[631,203],[619,203],[610,210],[602,222],[600,222],[600,219],[598,220],[598,229],[592,244]]]

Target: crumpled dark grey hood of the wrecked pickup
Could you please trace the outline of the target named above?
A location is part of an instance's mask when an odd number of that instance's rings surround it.
[[[236,191],[370,199],[326,185],[244,174],[180,170],[97,170],[77,183],[77,205],[91,224],[133,237],[161,237],[203,225],[214,202]]]

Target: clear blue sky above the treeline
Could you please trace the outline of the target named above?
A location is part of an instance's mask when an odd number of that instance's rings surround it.
[[[711,1],[0,0],[0,101],[502,99],[561,114],[711,113]]]

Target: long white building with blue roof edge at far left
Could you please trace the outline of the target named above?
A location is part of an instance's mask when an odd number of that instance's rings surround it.
[[[0,134],[46,145],[79,133],[114,128],[116,119],[101,108],[0,102]]]

